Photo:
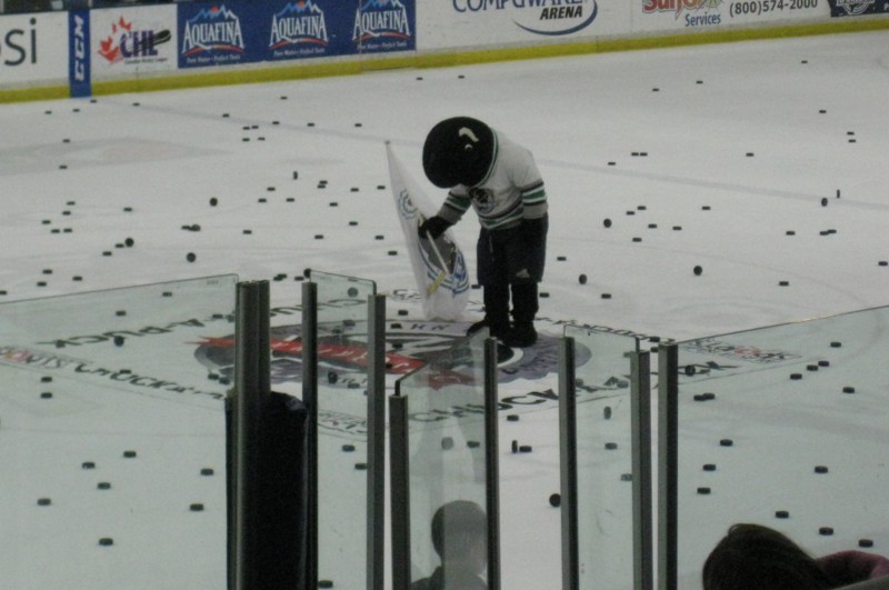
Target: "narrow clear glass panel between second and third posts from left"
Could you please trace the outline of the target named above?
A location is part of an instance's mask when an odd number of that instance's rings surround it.
[[[372,281],[312,271],[318,286],[318,576],[367,571],[368,297]]]

